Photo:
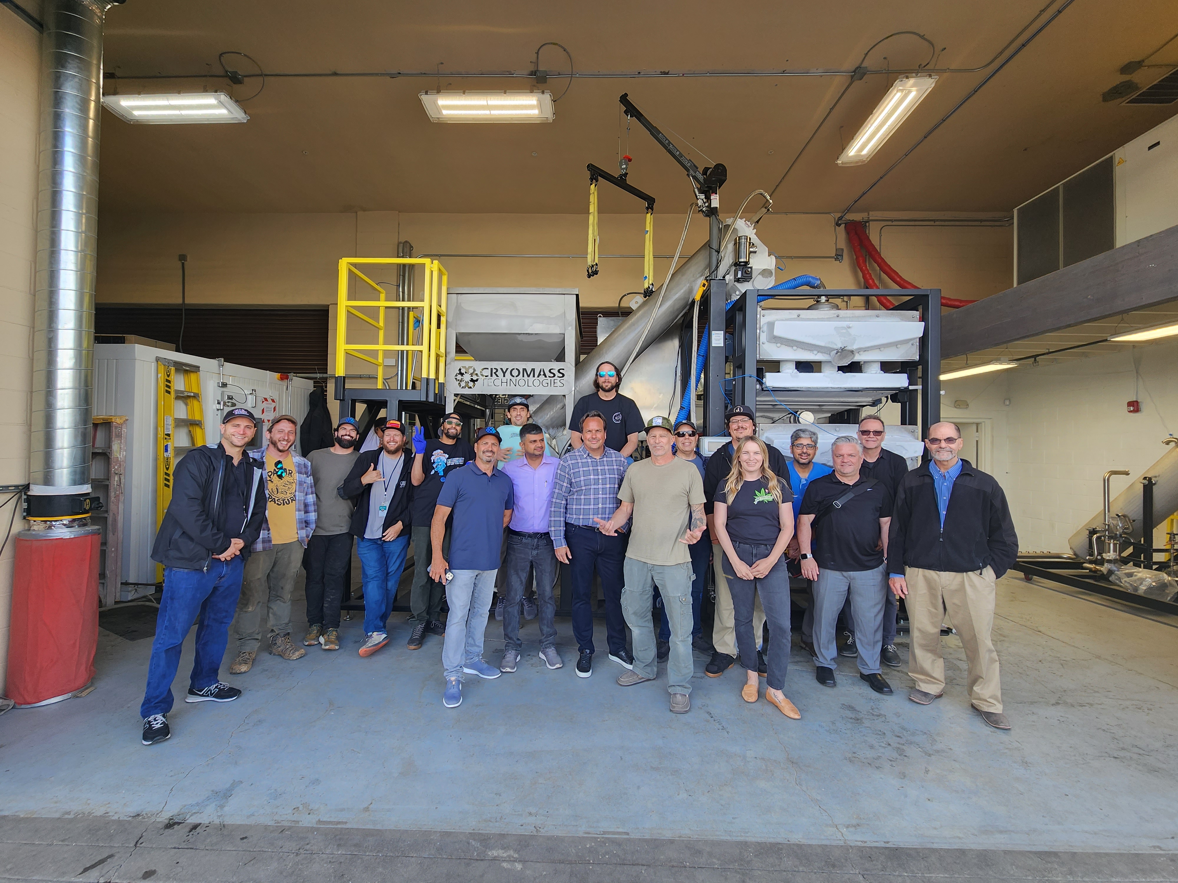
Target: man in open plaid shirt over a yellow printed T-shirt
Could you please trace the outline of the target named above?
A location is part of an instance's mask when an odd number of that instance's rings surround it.
[[[244,675],[253,666],[262,643],[263,610],[270,626],[270,652],[284,659],[306,655],[291,642],[291,595],[315,532],[317,509],[311,464],[293,450],[297,433],[298,421],[280,414],[266,430],[265,450],[250,451],[253,459],[266,464],[266,518],[245,563],[233,619],[238,652],[229,668],[231,675]]]

